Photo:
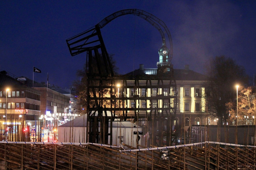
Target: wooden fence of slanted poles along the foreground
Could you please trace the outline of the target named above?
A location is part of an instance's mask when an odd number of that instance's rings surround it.
[[[224,146],[224,147],[223,147]],[[124,148],[136,149],[124,145]],[[141,146],[139,147],[141,148]],[[131,169],[248,169],[255,170],[256,149],[202,144],[169,150],[169,160],[161,150],[120,152],[119,148],[71,144],[4,144],[0,159],[5,169],[131,170]]]

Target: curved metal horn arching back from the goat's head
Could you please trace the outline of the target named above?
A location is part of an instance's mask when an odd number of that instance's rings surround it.
[[[152,15],[152,14],[146,12],[146,11],[143,11],[143,10],[126,9],[126,10],[117,11],[117,12],[109,15],[108,17],[102,19],[97,25],[100,28],[103,28],[109,22],[114,20],[115,18],[123,16],[123,15],[127,15],[127,14],[137,15],[140,18],[143,18],[146,21],[148,21],[152,26],[154,26],[159,31],[159,33],[161,34],[161,37],[162,37],[163,46],[166,46],[164,32],[163,32],[163,30],[161,29],[160,26],[162,26],[164,28],[164,31],[167,34],[168,39],[169,39],[169,43],[170,43],[170,55],[169,55],[170,58],[169,59],[170,59],[170,62],[171,62],[171,60],[172,60],[172,37],[171,37],[171,33],[170,33],[169,29],[167,28],[167,26],[164,24],[164,22],[161,19],[155,17],[154,15]]]

